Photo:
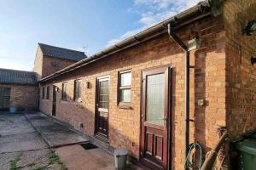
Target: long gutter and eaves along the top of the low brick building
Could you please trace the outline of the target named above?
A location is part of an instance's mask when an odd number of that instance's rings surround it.
[[[140,31],[136,35],[128,37],[121,42],[117,42],[113,46],[105,48],[102,51],[100,51],[94,55],[91,55],[90,57],[88,57],[86,59],[82,59],[73,65],[69,65],[60,71],[56,71],[55,73],[49,75],[48,77],[44,77],[39,82],[46,82],[54,77],[58,77],[58,76],[60,76],[64,73],[67,73],[69,71],[76,70],[76,69],[80,68],[81,66],[88,65],[92,62],[95,62],[98,59],[105,58],[110,54],[115,54],[115,53],[122,51],[126,48],[131,48],[132,46],[137,45],[138,43],[147,41],[148,39],[151,39],[153,37],[156,37],[163,33],[166,33],[167,25],[170,23],[175,25],[176,28],[179,28],[181,26],[188,25],[189,23],[194,22],[195,20],[199,20],[208,15],[211,15],[212,6],[216,4],[216,0],[215,0],[215,2],[212,2],[212,1],[214,1],[214,0],[202,1],[202,2],[198,3],[197,5],[195,5],[194,7],[189,8],[189,9],[183,11],[182,13],[174,15],[171,18],[160,22],[157,25],[151,26],[144,31]],[[219,3],[222,3],[224,0],[217,0],[217,1]]]

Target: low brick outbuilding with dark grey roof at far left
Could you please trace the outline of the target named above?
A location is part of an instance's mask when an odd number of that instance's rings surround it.
[[[0,111],[37,110],[37,82],[35,72],[0,69]]]

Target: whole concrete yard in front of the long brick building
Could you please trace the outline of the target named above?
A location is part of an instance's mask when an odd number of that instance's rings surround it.
[[[96,149],[96,155],[91,151],[87,153],[80,143],[88,142],[69,127],[40,112],[0,113],[1,170],[113,169],[113,156],[101,149]],[[90,155],[99,159],[88,164],[83,156],[88,159]],[[98,167],[101,161],[103,163]]]

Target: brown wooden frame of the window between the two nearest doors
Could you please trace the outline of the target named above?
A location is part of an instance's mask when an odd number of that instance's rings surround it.
[[[119,108],[129,109],[131,108],[131,100],[130,102],[123,102],[121,101],[121,90],[123,89],[130,89],[131,90],[131,84],[128,86],[121,86],[121,75],[125,73],[131,73],[131,70],[125,70],[125,71],[119,71],[118,75],[118,106]],[[131,83],[132,83],[132,74],[131,74]]]

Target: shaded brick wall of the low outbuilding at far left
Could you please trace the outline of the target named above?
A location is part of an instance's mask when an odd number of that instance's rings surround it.
[[[38,86],[0,84],[0,88],[11,88],[11,107],[16,107],[19,111],[38,110]]]

